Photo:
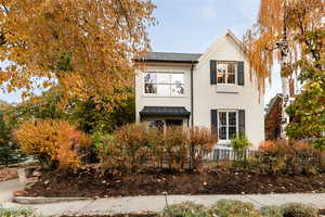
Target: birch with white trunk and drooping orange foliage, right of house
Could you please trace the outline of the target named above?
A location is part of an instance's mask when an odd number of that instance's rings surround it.
[[[302,49],[313,50],[313,44],[308,40],[297,40],[297,37],[324,27],[324,13],[323,0],[261,0],[258,22],[244,37],[251,73],[256,75],[261,92],[264,91],[265,78],[271,81],[274,63],[281,64],[282,138],[286,138],[285,128],[289,122],[285,111],[289,106],[291,64],[313,55],[313,52],[307,53]]]

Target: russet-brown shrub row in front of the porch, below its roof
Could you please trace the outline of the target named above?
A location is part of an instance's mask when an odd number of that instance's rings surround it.
[[[134,171],[147,166],[167,166],[180,171],[196,168],[214,141],[206,128],[187,130],[171,126],[159,130],[145,124],[132,124],[104,139],[100,159],[102,167],[110,171]]]

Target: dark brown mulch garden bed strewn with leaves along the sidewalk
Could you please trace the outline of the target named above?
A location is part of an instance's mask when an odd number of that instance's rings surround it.
[[[255,194],[325,192],[325,174],[261,175],[214,168],[205,173],[146,170],[123,176],[101,175],[92,167],[78,173],[43,171],[28,196],[106,197],[168,194]]]

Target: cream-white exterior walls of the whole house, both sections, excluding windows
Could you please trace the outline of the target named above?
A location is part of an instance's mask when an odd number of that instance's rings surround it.
[[[210,60],[244,61],[245,86],[210,85]],[[144,106],[184,106],[191,111],[191,64],[150,63],[146,72],[184,72],[184,97],[150,97],[145,95],[143,74],[135,77],[136,122],[139,112]],[[202,55],[194,68],[194,125],[211,127],[211,110],[245,110],[245,131],[255,148],[264,140],[263,95],[251,82],[249,65],[238,44],[229,36],[223,36]],[[191,123],[191,122],[190,122]]]

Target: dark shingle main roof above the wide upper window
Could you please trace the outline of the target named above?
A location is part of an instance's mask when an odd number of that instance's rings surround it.
[[[197,62],[199,56],[202,56],[202,53],[150,52],[144,58],[144,61],[192,63]]]

